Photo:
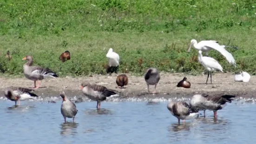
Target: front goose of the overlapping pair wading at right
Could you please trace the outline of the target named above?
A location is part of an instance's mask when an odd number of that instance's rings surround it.
[[[167,109],[171,112],[171,114],[178,119],[178,123],[180,124],[180,119],[183,119],[183,123],[185,123],[186,119],[191,119],[197,116],[199,113],[195,109],[193,109],[186,102],[174,102],[171,101],[167,104]]]

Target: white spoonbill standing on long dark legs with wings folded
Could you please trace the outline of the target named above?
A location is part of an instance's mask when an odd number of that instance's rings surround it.
[[[208,76],[205,85],[207,84],[208,78],[209,78],[209,72],[210,72],[210,84],[211,84],[211,72],[215,70],[219,70],[223,72],[222,66],[217,62],[217,60],[210,58],[210,57],[203,57],[202,51],[198,51],[198,61],[205,67],[205,69],[208,71]]]

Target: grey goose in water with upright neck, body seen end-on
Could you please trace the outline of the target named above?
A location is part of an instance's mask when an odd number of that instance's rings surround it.
[[[60,97],[62,98],[60,111],[64,118],[65,123],[66,123],[66,118],[73,118],[73,123],[74,123],[75,116],[78,112],[76,105],[66,97],[64,92],[60,93]]]

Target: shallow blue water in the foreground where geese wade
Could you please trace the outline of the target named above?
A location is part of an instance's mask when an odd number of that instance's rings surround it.
[[[177,118],[162,102],[77,103],[75,123],[60,113],[61,101],[14,102],[0,100],[0,144],[249,144],[256,143],[256,105],[233,101],[217,112],[206,111],[206,118]],[[203,112],[203,111],[202,111]]]

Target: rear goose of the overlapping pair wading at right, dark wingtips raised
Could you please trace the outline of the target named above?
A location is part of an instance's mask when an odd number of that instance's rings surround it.
[[[196,94],[190,99],[190,105],[198,111],[203,110],[204,117],[205,110],[210,110],[213,111],[214,118],[217,118],[217,111],[223,109],[226,106],[226,102],[231,103],[231,101],[234,100],[232,98],[235,98],[235,96],[210,96],[206,94]]]

